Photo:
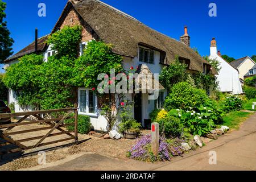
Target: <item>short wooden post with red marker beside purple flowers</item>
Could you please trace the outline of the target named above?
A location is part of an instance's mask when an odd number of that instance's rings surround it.
[[[151,124],[151,150],[155,156],[159,153],[159,123]]]

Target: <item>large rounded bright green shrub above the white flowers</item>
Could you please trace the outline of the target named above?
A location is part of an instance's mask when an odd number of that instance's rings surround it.
[[[204,90],[193,88],[188,82],[179,82],[174,85],[171,93],[164,102],[167,111],[171,109],[188,109],[189,107],[200,107],[208,100]]]

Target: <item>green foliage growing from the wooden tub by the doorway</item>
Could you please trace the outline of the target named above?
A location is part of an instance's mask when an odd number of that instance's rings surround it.
[[[125,105],[121,106],[121,111],[120,111],[120,118],[121,118],[121,123],[119,124],[119,132],[123,133],[124,131],[135,131],[139,133],[140,128],[141,128],[141,123],[138,123],[134,118],[133,118],[133,104],[130,103],[129,101],[123,102]]]

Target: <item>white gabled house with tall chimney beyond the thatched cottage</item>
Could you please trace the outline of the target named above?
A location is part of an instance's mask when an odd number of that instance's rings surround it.
[[[220,51],[217,51],[215,38],[210,42],[210,59],[216,59],[220,63],[220,72],[218,72],[217,80],[219,82],[220,92],[232,94],[242,94],[242,85],[239,78],[239,71],[232,67],[221,57]]]

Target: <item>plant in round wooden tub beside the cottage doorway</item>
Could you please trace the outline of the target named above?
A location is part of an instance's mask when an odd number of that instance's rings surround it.
[[[121,102],[121,123],[119,124],[119,132],[127,139],[135,139],[140,132],[141,123],[133,118],[133,102]]]

